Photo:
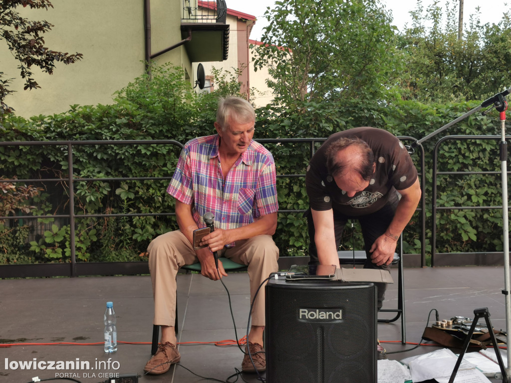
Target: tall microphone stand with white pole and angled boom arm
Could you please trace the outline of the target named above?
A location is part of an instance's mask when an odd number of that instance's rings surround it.
[[[506,310],[506,336],[511,333],[511,296],[509,295],[510,285],[509,285],[509,219],[508,219],[508,208],[507,208],[507,143],[506,143],[506,135],[505,135],[505,111],[507,110],[507,101],[505,96],[511,93],[511,88],[504,90],[503,92],[497,93],[489,99],[484,100],[481,105],[475,107],[472,110],[469,110],[467,113],[459,116],[455,120],[450,123],[444,125],[442,128],[435,130],[433,133],[428,134],[426,137],[413,142],[412,145],[408,148],[408,153],[412,154],[414,148],[421,145],[422,142],[427,139],[437,135],[440,132],[443,132],[447,128],[453,126],[454,124],[461,121],[463,118],[474,114],[478,110],[482,108],[486,108],[492,105],[491,108],[482,112],[482,114],[486,114],[492,108],[496,108],[500,112],[500,127],[501,127],[501,142],[499,145],[500,148],[500,169],[501,169],[501,178],[502,178],[502,231],[503,231],[503,242],[502,242],[502,251],[504,254],[504,290],[502,290],[502,294],[505,297],[505,310]],[[493,329],[489,329],[493,331]],[[495,352],[498,353],[499,348],[497,344],[494,344]],[[503,369],[501,369],[503,370]],[[455,375],[456,371],[453,372]],[[511,376],[511,352],[507,352],[507,368],[505,369],[505,375],[502,376],[502,382],[507,383],[507,377]],[[452,376],[451,378],[454,378]]]

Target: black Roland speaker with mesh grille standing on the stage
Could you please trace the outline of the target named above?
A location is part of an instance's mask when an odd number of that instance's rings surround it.
[[[377,383],[373,283],[270,279],[265,290],[267,383]]]

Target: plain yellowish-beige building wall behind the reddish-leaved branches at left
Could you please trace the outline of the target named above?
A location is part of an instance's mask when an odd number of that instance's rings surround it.
[[[156,53],[181,40],[179,1],[151,1],[151,51]],[[0,43],[0,70],[13,78],[16,92],[5,102],[15,114],[30,117],[65,112],[69,105],[111,104],[112,94],[144,73],[144,2],[126,0],[52,0],[54,8],[30,10],[18,7],[22,16],[47,20],[54,25],[44,35],[51,50],[83,54],[77,63],[56,63],[53,75],[32,67],[41,88],[23,90],[18,62]],[[190,76],[192,65],[180,46],[157,62],[180,65]]]

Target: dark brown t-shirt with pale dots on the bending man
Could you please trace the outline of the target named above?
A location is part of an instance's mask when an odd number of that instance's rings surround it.
[[[327,171],[325,152],[339,138],[360,138],[375,155],[376,171],[362,192],[348,197]],[[314,210],[330,210],[346,216],[363,216],[381,209],[415,182],[417,170],[403,143],[383,129],[360,127],[332,134],[312,156],[305,178],[310,206]]]

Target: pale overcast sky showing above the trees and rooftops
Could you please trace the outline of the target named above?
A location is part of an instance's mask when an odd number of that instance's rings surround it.
[[[439,5],[444,7],[449,0],[439,0]],[[451,0],[456,1],[457,0]],[[267,7],[273,7],[274,0],[225,0],[227,8],[234,9],[239,12],[248,13],[249,15],[257,17],[258,21],[255,23],[250,38],[253,40],[260,40],[262,36],[262,30],[266,26],[266,19],[263,18]],[[430,4],[433,4],[433,0],[423,0],[423,6],[426,9]],[[405,23],[410,25],[410,10],[415,8],[417,4],[414,0],[383,0],[382,4],[388,10],[392,11],[394,17],[394,25],[400,30],[404,27]],[[466,23],[469,21],[469,16],[476,12],[476,7],[480,8],[481,22],[497,23],[502,18],[502,14],[505,12],[503,2],[491,2],[481,0],[464,0],[463,1],[463,19]],[[500,9],[499,9],[500,8]]]

